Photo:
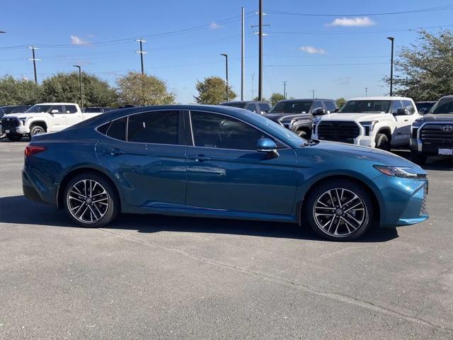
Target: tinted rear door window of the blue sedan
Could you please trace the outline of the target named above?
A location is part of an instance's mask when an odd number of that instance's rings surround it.
[[[178,145],[178,111],[152,111],[130,115],[127,141]]]

